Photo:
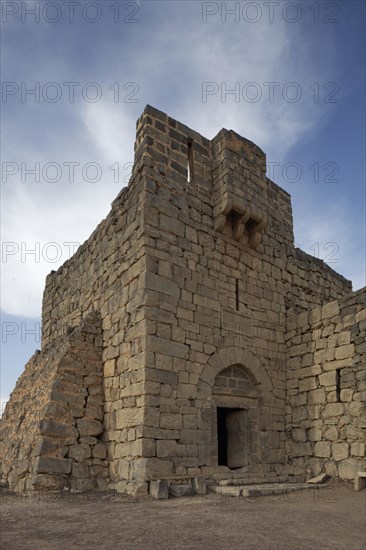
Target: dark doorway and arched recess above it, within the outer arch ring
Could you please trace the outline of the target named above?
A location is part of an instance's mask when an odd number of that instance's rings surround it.
[[[235,364],[219,372],[212,403],[216,410],[213,433],[217,465],[236,469],[257,463],[259,392],[249,371]]]

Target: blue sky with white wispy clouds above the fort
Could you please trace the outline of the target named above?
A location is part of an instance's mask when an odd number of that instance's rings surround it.
[[[3,401],[40,347],[45,276],[128,181],[147,103],[257,143],[292,195],[296,243],[364,286],[364,2],[72,9],[1,2]]]

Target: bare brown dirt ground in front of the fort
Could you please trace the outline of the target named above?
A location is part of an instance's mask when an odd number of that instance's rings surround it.
[[[1,550],[365,550],[366,491],[255,498],[1,494]]]

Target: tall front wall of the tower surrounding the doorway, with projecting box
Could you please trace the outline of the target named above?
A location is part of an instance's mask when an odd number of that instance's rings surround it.
[[[135,459],[134,443],[124,445],[124,475],[208,477],[225,470],[217,463],[220,403],[252,409],[259,444],[245,469],[281,473],[287,297],[292,292],[297,308],[310,308],[348,293],[350,283],[296,253],[290,197],[266,178],[265,155],[255,144],[225,130],[210,142],[147,108],[136,156],[145,156],[149,182],[142,275],[149,395],[142,396],[146,448]],[[319,285],[321,276],[329,284]],[[255,399],[245,389],[217,394],[216,377],[234,365],[252,377]]]

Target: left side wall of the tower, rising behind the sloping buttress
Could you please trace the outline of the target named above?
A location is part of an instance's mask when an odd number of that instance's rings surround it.
[[[76,254],[47,277],[43,297],[42,349],[50,349],[68,326],[91,310],[100,311],[104,426],[110,479],[125,478],[124,446],[143,456],[145,443],[135,419],[144,424],[145,338],[141,274],[145,271],[143,213],[145,159],[133,169],[130,184],[114,200],[111,212]],[[128,420],[128,416],[131,419]],[[123,462],[123,463],[121,463]],[[127,465],[128,466],[128,465]]]

